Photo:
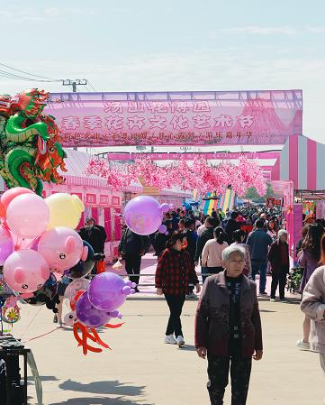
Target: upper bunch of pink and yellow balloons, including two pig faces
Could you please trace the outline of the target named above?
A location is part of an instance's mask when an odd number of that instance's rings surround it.
[[[50,301],[58,281],[88,254],[74,231],[84,210],[77,196],[65,193],[43,199],[31,189],[5,191],[0,199],[0,266],[16,296],[10,308],[16,308],[17,299],[55,307],[57,301]]]

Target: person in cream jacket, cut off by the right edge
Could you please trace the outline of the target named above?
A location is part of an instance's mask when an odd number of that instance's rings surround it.
[[[320,245],[320,262],[325,264],[325,235]],[[320,365],[325,375],[325,265],[311,274],[303,290],[301,309],[311,318],[311,349],[320,354]]]

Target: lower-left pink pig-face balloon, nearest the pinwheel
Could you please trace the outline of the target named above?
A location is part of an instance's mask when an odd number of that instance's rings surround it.
[[[50,268],[40,253],[31,249],[12,253],[4,264],[5,282],[22,294],[40,290],[50,277]]]

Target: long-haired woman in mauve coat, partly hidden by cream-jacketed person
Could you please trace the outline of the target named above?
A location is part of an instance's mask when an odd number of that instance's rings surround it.
[[[324,235],[324,228],[320,224],[312,224],[302,241],[302,255],[299,257],[299,265],[303,268],[302,283],[300,286],[303,292],[311,274],[320,266],[320,240]],[[311,348],[309,336],[311,333],[311,319],[305,316],[302,324],[303,337],[297,342],[301,350]]]

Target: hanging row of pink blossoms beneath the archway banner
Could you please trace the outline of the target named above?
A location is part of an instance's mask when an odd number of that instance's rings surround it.
[[[217,191],[223,194],[227,187],[243,196],[248,187],[255,187],[258,194],[266,194],[266,181],[262,170],[256,160],[240,156],[237,165],[230,161],[222,161],[218,165],[213,165],[195,156],[190,164],[181,159],[174,161],[167,166],[158,166],[149,157],[137,159],[134,163],[125,165],[115,165],[100,159],[89,162],[87,173],[95,174],[107,180],[111,189],[121,190],[131,184],[132,181],[142,178],[149,186],[158,189],[197,189],[201,194],[208,191]]]

